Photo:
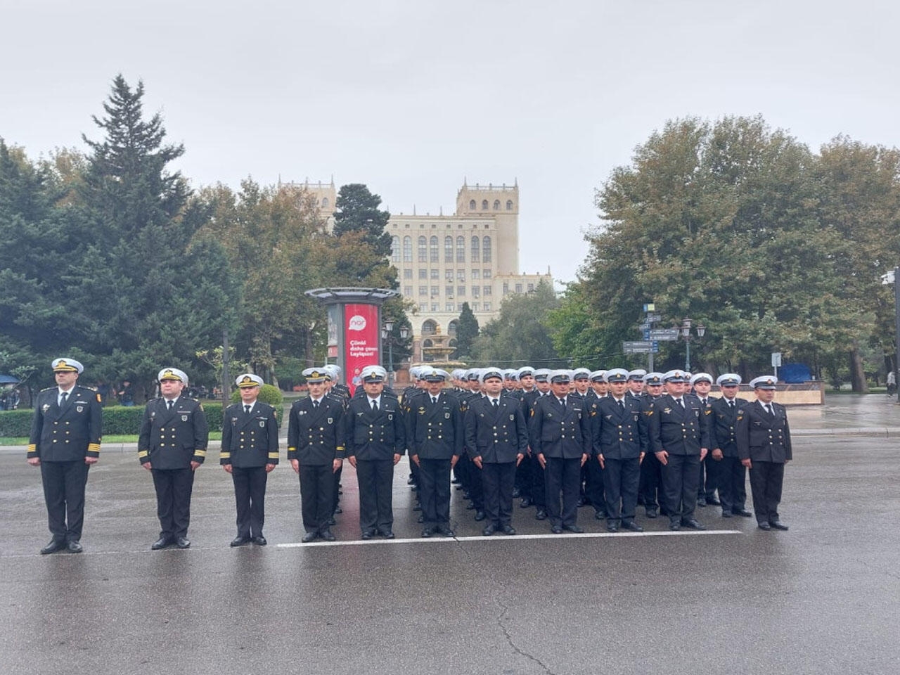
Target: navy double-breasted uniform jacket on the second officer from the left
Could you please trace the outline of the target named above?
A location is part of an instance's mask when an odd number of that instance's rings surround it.
[[[175,399],[168,410],[166,399],[148,401],[138,437],[140,464],[154,469],[190,469],[191,462],[203,463],[210,428],[203,407],[186,396]]]

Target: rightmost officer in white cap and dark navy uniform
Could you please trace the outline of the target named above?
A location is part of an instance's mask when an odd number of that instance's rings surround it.
[[[744,406],[743,414],[739,410],[734,423],[737,454],[741,463],[750,469],[753,512],[757,525],[763,530],[788,529],[779,518],[779,503],[785,464],[791,461],[793,454],[788,411],[772,401],[776,384],[771,375],[751,380],[756,401]]]

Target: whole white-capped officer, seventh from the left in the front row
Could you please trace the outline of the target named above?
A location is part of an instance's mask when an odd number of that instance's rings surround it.
[[[484,512],[488,524],[482,535],[500,531],[515,535],[512,527],[512,489],[516,464],[528,447],[528,432],[518,400],[502,395],[503,374],[485,368],[481,374],[485,396],[470,401],[465,413],[465,446],[482,480]]]

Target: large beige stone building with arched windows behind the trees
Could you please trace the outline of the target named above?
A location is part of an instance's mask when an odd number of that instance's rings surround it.
[[[338,191],[334,181],[293,184],[316,195],[322,216],[333,221]],[[455,337],[456,321],[468,302],[480,325],[495,319],[500,302],[511,293],[527,293],[546,274],[520,274],[518,266],[518,184],[469,185],[456,193],[453,215],[392,213],[391,262],[397,268],[410,313],[413,361],[423,361],[421,347],[438,331]],[[453,344],[453,342],[451,342]]]

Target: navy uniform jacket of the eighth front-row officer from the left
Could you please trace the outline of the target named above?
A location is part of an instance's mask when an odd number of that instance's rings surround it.
[[[590,410],[584,399],[571,394],[565,410],[554,393],[536,399],[528,422],[531,452],[545,457],[581,458],[593,452]]]

